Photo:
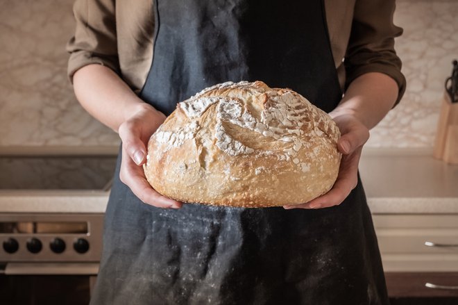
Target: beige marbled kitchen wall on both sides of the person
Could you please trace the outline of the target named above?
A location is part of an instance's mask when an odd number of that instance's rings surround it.
[[[73,0],[0,0],[0,152],[113,147],[117,134],[87,115],[66,76]],[[367,147],[430,149],[443,83],[458,58],[458,1],[398,1],[396,49],[407,92]]]

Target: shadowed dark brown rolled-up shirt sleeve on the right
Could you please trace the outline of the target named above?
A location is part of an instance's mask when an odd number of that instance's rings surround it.
[[[401,61],[394,50],[394,38],[402,28],[393,24],[394,0],[357,0],[345,56],[346,87],[358,76],[380,72],[398,83],[398,99],[405,92]]]

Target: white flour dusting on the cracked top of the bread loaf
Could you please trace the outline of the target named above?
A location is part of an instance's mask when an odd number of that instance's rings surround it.
[[[253,117],[250,109],[244,100],[237,96],[228,97],[229,89],[253,91],[257,96],[262,95],[265,99],[264,108],[260,112],[260,119]],[[221,95],[220,95],[221,94]],[[224,95],[223,95],[224,94]],[[244,94],[241,94],[242,97]],[[307,138],[313,135],[321,136],[325,132],[328,136],[337,141],[339,130],[334,122],[330,120],[328,114],[319,108],[310,104],[307,99],[300,94],[288,89],[275,90],[267,87],[264,83],[240,83],[226,82],[220,85],[214,85],[194,95],[186,101],[178,104],[189,119],[198,119],[205,113],[210,106],[217,106],[217,129],[215,138],[217,147],[230,156],[239,156],[241,154],[266,155],[275,154],[279,160],[291,160],[297,156],[300,149],[309,149],[310,143]],[[311,126],[301,128],[307,123],[307,117],[312,116],[309,120]],[[237,140],[237,135],[232,135],[223,126],[223,123],[230,123],[240,126],[242,129],[254,131],[264,137],[273,138],[282,142],[291,142],[292,146],[286,149],[262,150],[255,149],[244,145]],[[168,142],[169,147],[177,147],[183,144],[183,140],[189,140],[196,134],[196,121],[192,120],[176,131],[176,134],[170,134],[169,131],[158,129],[156,132],[160,142]],[[167,147],[167,150],[169,149]],[[282,147],[280,147],[282,148]],[[312,149],[309,154],[317,154],[317,149]],[[295,158],[294,162],[301,170],[307,172],[307,164],[299,162]]]

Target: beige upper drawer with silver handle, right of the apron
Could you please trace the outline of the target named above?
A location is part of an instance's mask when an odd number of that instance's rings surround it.
[[[375,229],[380,252],[456,254],[458,229]]]

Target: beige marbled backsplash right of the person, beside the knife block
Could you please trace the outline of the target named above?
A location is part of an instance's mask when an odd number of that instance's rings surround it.
[[[444,83],[458,58],[458,1],[398,1],[396,40],[407,90],[371,131],[368,147],[432,147]]]

